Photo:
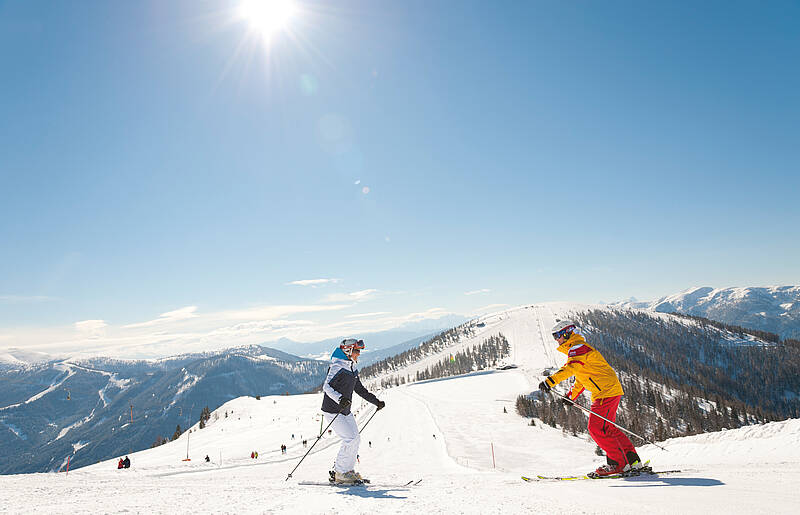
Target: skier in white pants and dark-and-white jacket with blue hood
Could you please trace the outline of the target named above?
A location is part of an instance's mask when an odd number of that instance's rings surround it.
[[[336,456],[331,476],[336,483],[350,484],[363,481],[361,475],[353,470],[361,442],[361,437],[358,435],[358,424],[350,412],[353,392],[377,406],[379,410],[386,406],[386,403],[368,392],[358,378],[356,364],[363,348],[363,340],[353,338],[342,340],[341,345],[331,356],[331,366],[328,369],[325,384],[322,386],[322,390],[325,392],[322,399],[323,416],[329,423],[333,421],[331,427],[342,439],[342,446]]]

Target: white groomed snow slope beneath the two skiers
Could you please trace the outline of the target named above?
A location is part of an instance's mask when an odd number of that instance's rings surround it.
[[[593,470],[588,437],[518,416],[542,369],[561,363],[550,341],[555,316],[582,309],[547,304],[482,317],[483,336],[502,332],[520,368],[475,372],[378,392],[386,408],[362,435],[357,469],[367,487],[326,481],[338,450],[325,434],[286,480],[321,424],[321,394],[233,399],[178,440],[69,474],[0,476],[0,512],[32,513],[796,513],[800,420],[675,438],[638,447],[662,477],[525,483],[520,475]],[[470,341],[479,343],[481,334]],[[461,342],[459,346],[468,345]],[[450,349],[447,352],[451,352]],[[441,356],[440,356],[441,357]],[[356,401],[363,426],[374,407]],[[503,408],[507,413],[503,413]],[[225,416],[225,413],[228,416]],[[292,438],[294,434],[294,439]],[[281,454],[280,445],[288,452]],[[258,459],[250,453],[257,451]],[[183,461],[187,457],[191,461]],[[208,455],[210,463],[204,461]],[[57,461],[61,461],[57,457]],[[66,462],[66,457],[63,458]],[[418,486],[401,487],[411,479]]]

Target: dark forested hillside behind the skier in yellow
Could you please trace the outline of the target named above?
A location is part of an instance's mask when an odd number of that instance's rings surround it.
[[[800,416],[800,345],[793,340],[701,317],[686,324],[593,310],[575,318],[617,370],[625,391],[617,422],[635,433],[664,440]],[[764,338],[734,345],[731,334]],[[586,431],[583,412],[539,392],[518,397],[517,411],[565,432]]]

